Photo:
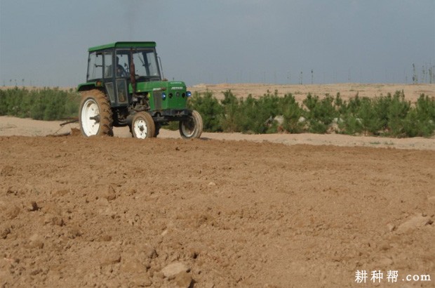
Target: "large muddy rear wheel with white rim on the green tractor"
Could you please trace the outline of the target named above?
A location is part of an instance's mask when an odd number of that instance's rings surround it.
[[[81,92],[79,122],[83,136],[113,136],[112,110],[102,91]]]

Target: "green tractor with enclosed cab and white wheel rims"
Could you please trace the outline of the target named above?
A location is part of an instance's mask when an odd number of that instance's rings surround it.
[[[86,83],[78,91],[83,136],[113,136],[113,127],[129,126],[135,138],[152,138],[168,122],[179,122],[182,138],[199,138],[199,112],[187,109],[182,81],[167,81],[155,42],[116,42],[89,48]]]

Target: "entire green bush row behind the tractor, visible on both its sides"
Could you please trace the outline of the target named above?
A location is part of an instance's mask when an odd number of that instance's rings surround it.
[[[435,98],[420,95],[416,103],[403,91],[376,98],[343,100],[309,93],[302,103],[288,93],[267,91],[260,98],[236,98],[231,90],[217,100],[211,91],[194,93],[189,107],[203,117],[204,131],[242,133],[344,133],[394,137],[430,137],[435,133]],[[76,117],[80,95],[70,89],[0,90],[0,115],[58,120]],[[174,128],[177,126],[170,125]],[[178,127],[178,126],[177,126]]]

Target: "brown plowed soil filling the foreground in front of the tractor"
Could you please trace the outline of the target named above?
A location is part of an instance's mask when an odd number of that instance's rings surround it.
[[[0,285],[433,287],[434,167],[434,150],[1,136]]]

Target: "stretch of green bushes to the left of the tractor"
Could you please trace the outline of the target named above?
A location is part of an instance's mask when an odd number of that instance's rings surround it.
[[[77,117],[80,95],[72,89],[25,88],[0,90],[0,115],[36,120],[58,120]]]

